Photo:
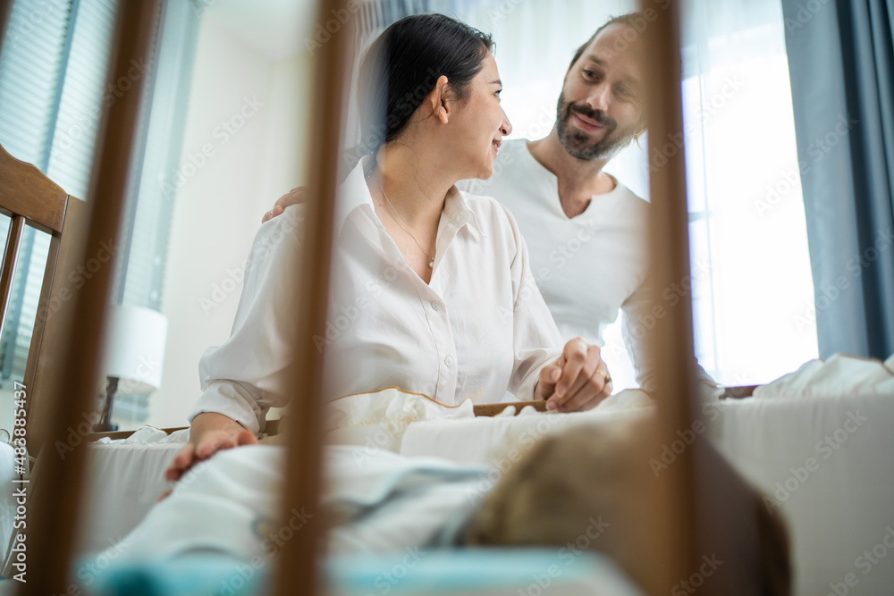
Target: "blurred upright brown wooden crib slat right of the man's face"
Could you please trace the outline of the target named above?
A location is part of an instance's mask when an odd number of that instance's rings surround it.
[[[646,34],[645,79],[646,113],[649,123],[649,153],[667,139],[682,138],[682,88],[679,47],[679,3],[657,9],[653,2],[641,1],[642,10],[658,16]],[[651,168],[650,250],[654,305],[665,304],[662,291],[689,278],[689,238],[687,222],[686,161],[683,149],[668,158],[667,164]],[[648,335],[648,349],[657,363],[655,385],[660,387],[661,430],[656,445],[671,444],[678,429],[687,429],[692,420],[696,378],[693,369],[694,342],[692,305],[682,300],[666,312]],[[697,569],[696,517],[693,491],[693,449],[684,451],[671,469],[661,476],[661,527],[655,540],[661,557],[655,561],[654,582],[647,586],[653,594],[667,594],[671,586]]]

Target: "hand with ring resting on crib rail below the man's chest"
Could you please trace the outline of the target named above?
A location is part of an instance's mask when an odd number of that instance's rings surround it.
[[[611,375],[599,356],[599,347],[581,338],[565,344],[561,356],[540,370],[536,399],[546,399],[546,408],[575,412],[596,407],[611,395]]]

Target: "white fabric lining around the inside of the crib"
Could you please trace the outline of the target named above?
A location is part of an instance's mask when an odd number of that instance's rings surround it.
[[[894,364],[894,358],[889,363]],[[691,432],[683,429],[679,443],[656,452],[654,461],[644,466],[654,466],[660,474],[688,443],[712,441],[759,489],[768,511],[787,520],[794,593],[825,593],[840,584],[859,585],[854,593],[887,593],[894,585],[894,559],[883,556],[894,548],[894,469],[889,461],[894,453],[890,433],[894,390],[889,387],[894,374],[881,363],[870,363],[871,373],[861,373],[860,366],[865,369],[865,361],[835,357],[809,363],[756,391],[755,397],[717,399],[718,393],[702,408],[698,420],[704,425],[694,424]],[[842,384],[835,387],[830,376]],[[873,382],[864,382],[867,378]],[[814,395],[820,383],[825,391],[841,394]],[[862,394],[850,392],[856,385]],[[475,416],[468,407],[464,414],[453,410],[443,418],[430,402],[423,409],[414,404],[410,396],[402,411],[413,414],[389,434],[391,450],[406,457],[438,457],[498,471],[516,460],[514,449],[523,450],[541,437],[581,424],[595,428],[618,424],[653,408],[637,390],[622,391],[585,414],[544,414],[525,408],[519,416],[507,411],[490,417]],[[350,411],[354,414],[349,416]],[[384,410],[376,413],[368,407],[345,407],[333,414],[335,427],[329,436],[358,446],[382,444],[372,438],[385,427],[385,419],[376,417],[383,414]],[[345,426],[337,428],[338,424]],[[90,499],[90,530],[82,552],[120,541],[139,521],[167,488],[161,472],[181,441],[183,432],[166,436],[146,429],[126,441],[91,448],[91,470],[99,489]]]

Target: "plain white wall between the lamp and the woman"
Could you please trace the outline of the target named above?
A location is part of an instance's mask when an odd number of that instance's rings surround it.
[[[164,379],[149,400],[148,424],[186,424],[201,394],[198,360],[230,335],[239,271],[261,216],[303,183],[309,72],[308,55],[271,61],[214,13],[203,17],[183,164],[190,156],[202,164],[203,147],[213,155],[176,198],[163,297],[169,324]],[[246,98],[256,97],[263,105],[237,129]],[[234,134],[224,121],[231,121]]]

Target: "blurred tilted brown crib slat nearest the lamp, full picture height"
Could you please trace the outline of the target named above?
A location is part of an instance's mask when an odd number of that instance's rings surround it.
[[[115,24],[116,52],[109,80],[126,76],[131,60],[148,60],[157,0],[122,2]],[[145,79],[134,81],[105,113],[88,195],[90,223],[86,244],[119,237],[122,201],[139,123],[139,106]],[[93,408],[99,357],[105,327],[104,312],[112,281],[111,267],[100,269],[75,298],[71,344],[59,371],[64,387],[55,392],[48,413],[46,436],[50,445],[65,441],[68,429],[83,421]],[[43,449],[42,473],[28,511],[28,570],[24,594],[46,596],[66,593],[66,581],[80,513],[84,443],[72,446],[63,459],[55,449]]]

